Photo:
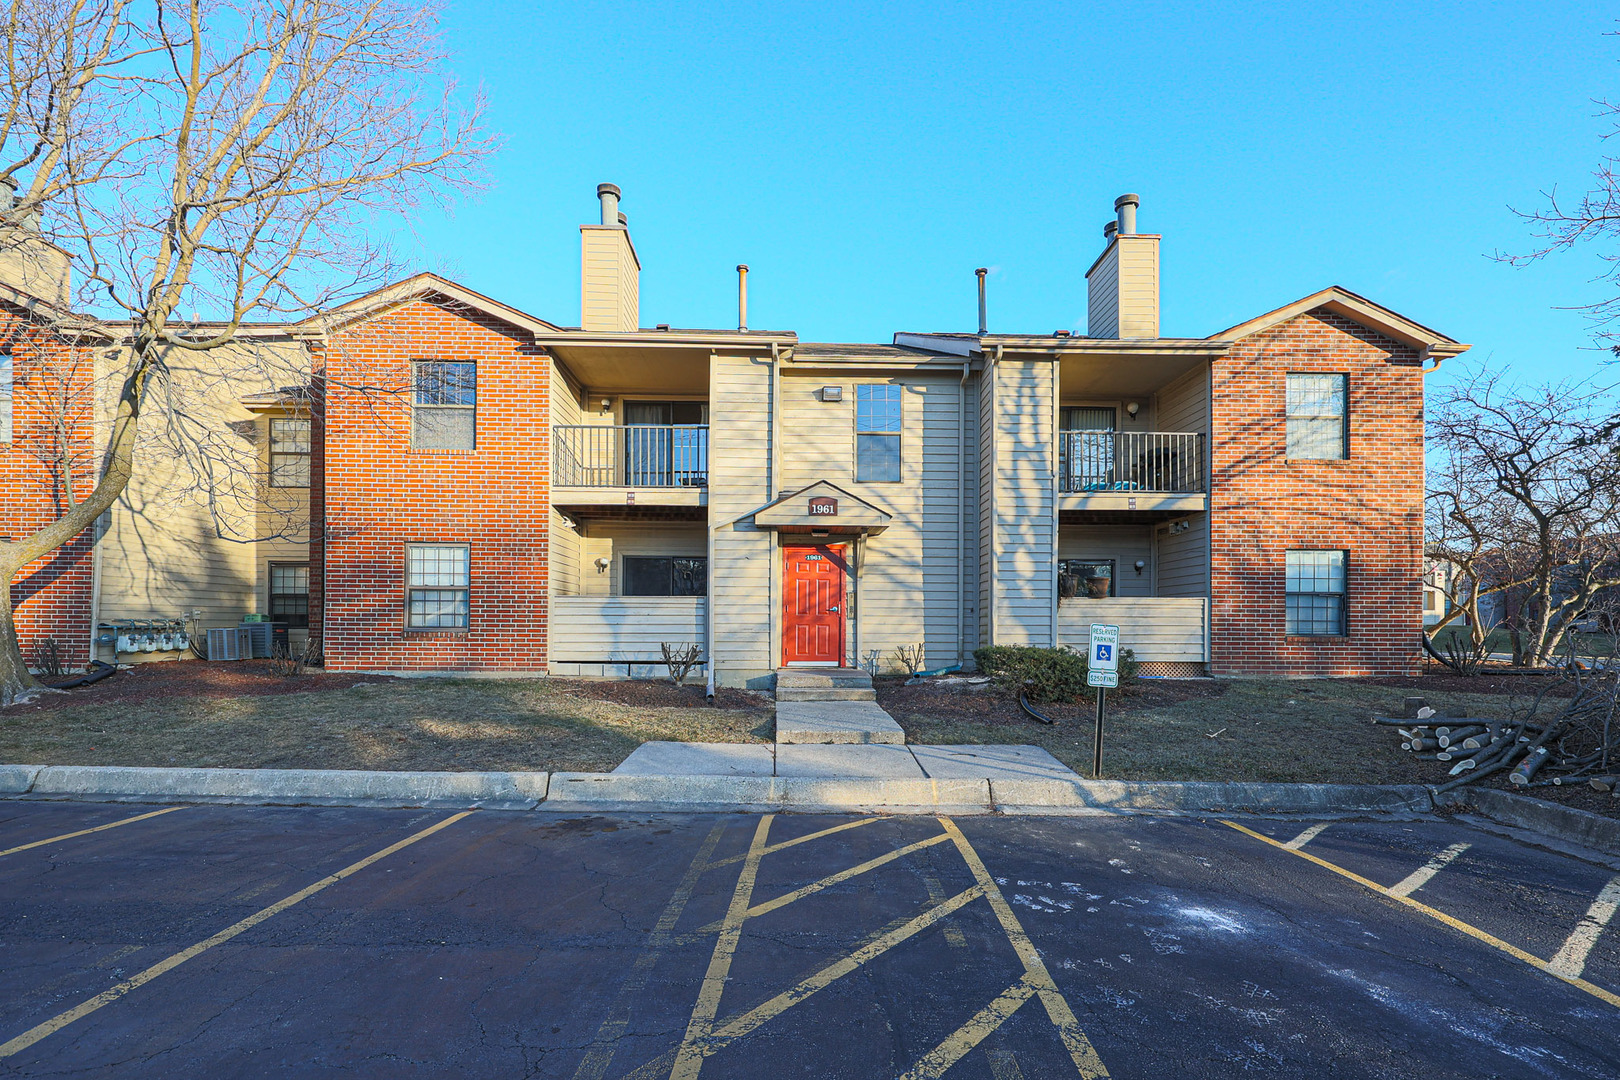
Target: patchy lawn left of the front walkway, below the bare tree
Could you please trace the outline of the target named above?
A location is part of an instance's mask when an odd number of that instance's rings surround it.
[[[653,738],[770,742],[770,701],[698,687],[143,664],[0,709],[8,764],[599,772]]]

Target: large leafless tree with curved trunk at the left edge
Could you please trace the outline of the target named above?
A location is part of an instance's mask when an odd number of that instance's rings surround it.
[[[246,324],[397,277],[379,225],[471,186],[491,149],[481,102],[457,105],[442,74],[431,5],[10,0],[5,18],[0,185],[16,194],[0,207],[0,257],[47,285],[71,257],[75,293],[31,319],[118,348],[89,481],[63,487],[49,525],[0,542],[0,703],[31,685],[11,581],[126,489],[143,419],[159,393],[183,393],[168,371],[274,377]],[[183,403],[167,405],[185,427]],[[225,436],[175,434],[198,484],[217,481],[207,444]]]

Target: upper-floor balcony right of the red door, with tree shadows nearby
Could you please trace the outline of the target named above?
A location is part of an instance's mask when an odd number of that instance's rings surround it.
[[[1064,510],[1207,510],[1204,436],[1191,431],[1061,431]]]

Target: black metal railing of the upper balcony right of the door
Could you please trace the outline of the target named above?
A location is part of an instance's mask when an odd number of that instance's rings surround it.
[[[1064,492],[1204,491],[1204,436],[1187,431],[1061,431]]]

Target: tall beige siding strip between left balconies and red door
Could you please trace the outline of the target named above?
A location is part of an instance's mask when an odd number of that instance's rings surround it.
[[[710,521],[714,560],[710,597],[714,619],[714,670],[726,685],[765,687],[774,617],[776,549],[771,533],[747,518],[765,505],[771,471],[771,361],[721,356],[710,361]]]

